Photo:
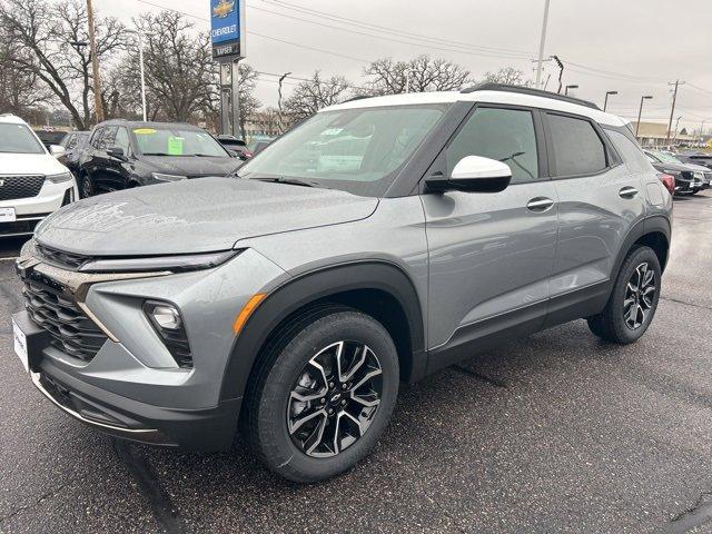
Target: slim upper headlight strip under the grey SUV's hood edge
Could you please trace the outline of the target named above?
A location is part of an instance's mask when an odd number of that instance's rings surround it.
[[[79,270],[82,273],[147,273],[156,270],[181,273],[217,267],[240,253],[241,250],[224,250],[221,253],[155,256],[148,258],[96,259],[93,261],[87,261]]]

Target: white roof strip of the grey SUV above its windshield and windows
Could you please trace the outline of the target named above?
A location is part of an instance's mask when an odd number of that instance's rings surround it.
[[[469,92],[439,91],[439,92],[411,92],[407,95],[388,95],[385,97],[359,98],[344,103],[329,106],[320,111],[332,111],[338,109],[376,108],[382,106],[408,106],[416,103],[453,103],[453,102],[488,102],[488,103],[512,103],[515,106],[528,106],[531,108],[553,109],[567,113],[589,117],[602,125],[625,126],[627,121],[611,113],[601,111],[597,108],[576,103],[575,99],[563,100],[556,93],[547,97],[544,91],[537,95],[535,91],[516,92],[516,90],[488,90],[474,89]],[[560,98],[556,98],[560,97]]]

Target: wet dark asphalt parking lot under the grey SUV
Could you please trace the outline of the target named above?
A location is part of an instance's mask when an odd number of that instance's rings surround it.
[[[59,413],[12,350],[0,244],[0,532],[712,532],[712,194],[675,201],[649,333],[564,325],[404,387],[366,461],[315,486],[243,448],[127,445]]]

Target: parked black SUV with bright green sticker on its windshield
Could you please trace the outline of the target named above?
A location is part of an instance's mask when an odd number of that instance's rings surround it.
[[[82,197],[186,178],[226,176],[240,160],[202,128],[108,120],[97,125],[79,161]]]

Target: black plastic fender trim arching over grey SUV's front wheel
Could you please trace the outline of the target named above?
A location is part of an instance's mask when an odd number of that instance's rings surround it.
[[[409,327],[412,368],[407,382],[425,374],[425,329],[415,286],[397,265],[384,260],[360,260],[319,268],[287,280],[271,290],[233,343],[222,377],[220,400],[244,395],[253,366],[269,335],[297,309],[332,295],[357,289],[376,289],[393,296],[403,308]]]

